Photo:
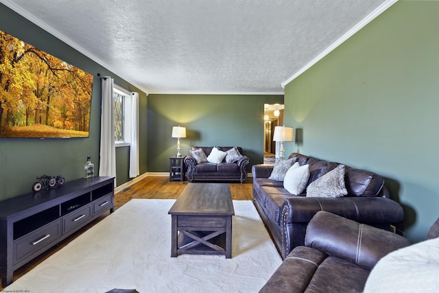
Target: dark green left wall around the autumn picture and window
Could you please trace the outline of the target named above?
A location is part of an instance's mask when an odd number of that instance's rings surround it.
[[[139,92],[140,128],[147,128],[146,94],[132,84],[119,78],[93,60],[80,54],[40,27],[27,21],[19,14],[0,4],[0,30],[12,34],[95,76],[91,107],[90,137],[87,139],[0,139],[0,200],[31,191],[36,176],[43,174],[62,175],[67,181],[82,177],[86,156],[90,155],[99,167],[100,103],[101,82],[97,73],[110,75],[115,83],[128,91]],[[140,172],[146,172],[146,136],[140,133]],[[117,150],[118,154],[122,150]],[[122,152],[123,153],[123,152]],[[122,154],[126,158],[126,152]],[[128,163],[117,158],[117,174],[128,174]],[[122,168],[122,169],[121,169]],[[120,185],[128,176],[117,180]]]

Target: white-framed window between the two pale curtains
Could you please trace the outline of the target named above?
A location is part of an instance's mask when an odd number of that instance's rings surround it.
[[[113,87],[113,102],[115,109],[115,144],[116,146],[130,145],[131,95],[120,86]]]

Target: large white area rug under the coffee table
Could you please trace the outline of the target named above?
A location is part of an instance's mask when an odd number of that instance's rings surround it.
[[[234,200],[232,258],[171,257],[175,200],[130,200],[5,292],[258,292],[281,257],[250,200]],[[17,291],[13,291],[17,290]],[[27,291],[21,291],[27,290]]]

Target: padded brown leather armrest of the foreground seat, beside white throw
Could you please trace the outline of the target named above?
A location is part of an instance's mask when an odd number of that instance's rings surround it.
[[[319,211],[307,226],[305,245],[372,270],[377,261],[412,243],[380,228]]]

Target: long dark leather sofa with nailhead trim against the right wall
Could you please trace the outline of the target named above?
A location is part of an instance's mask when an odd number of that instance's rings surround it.
[[[307,185],[335,169],[334,163],[292,153],[300,165],[309,165]],[[253,165],[253,198],[263,221],[268,226],[283,259],[296,246],[305,244],[305,232],[311,218],[318,211],[329,211],[344,218],[391,230],[392,225],[403,220],[403,209],[390,199],[384,180],[378,174],[345,166],[344,182],[348,194],[340,198],[294,196],[282,181],[268,179],[273,165]]]

